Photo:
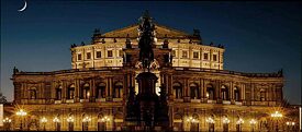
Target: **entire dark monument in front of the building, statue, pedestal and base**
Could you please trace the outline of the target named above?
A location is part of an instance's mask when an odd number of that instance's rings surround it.
[[[134,87],[130,87],[126,106],[126,128],[138,131],[167,131],[169,127],[166,88],[161,86],[160,96],[155,87],[158,77],[150,72],[154,61],[154,29],[148,12],[141,17],[138,27],[139,59],[144,72],[136,77],[138,94],[135,96]],[[147,69],[147,72],[145,71]]]

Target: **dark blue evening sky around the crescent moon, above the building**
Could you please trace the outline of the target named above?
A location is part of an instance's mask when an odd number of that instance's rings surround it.
[[[71,44],[89,43],[92,31],[137,22],[145,10],[161,25],[201,31],[204,44],[225,46],[225,70],[277,72],[284,97],[301,104],[301,2],[105,2],[1,0],[1,88],[13,98],[13,67],[22,71],[70,69]]]

